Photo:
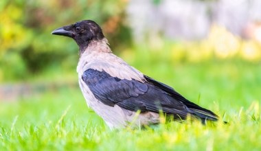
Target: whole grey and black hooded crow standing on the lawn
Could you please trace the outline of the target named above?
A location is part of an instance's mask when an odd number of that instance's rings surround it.
[[[109,128],[159,124],[161,115],[218,121],[218,115],[190,102],[115,56],[102,28],[92,20],[59,27],[54,35],[73,38],[79,47],[78,82],[87,105]],[[162,113],[162,114],[161,114]]]

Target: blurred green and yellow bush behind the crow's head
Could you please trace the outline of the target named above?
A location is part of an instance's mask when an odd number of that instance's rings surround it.
[[[72,69],[78,47],[67,38],[52,36],[52,30],[84,19],[102,25],[115,47],[123,38],[131,41],[124,27],[124,1],[21,1],[0,2],[0,81],[18,79],[52,65]],[[122,34],[125,33],[125,34]]]

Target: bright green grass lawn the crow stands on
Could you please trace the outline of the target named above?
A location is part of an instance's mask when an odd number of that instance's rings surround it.
[[[80,89],[64,88],[0,102],[0,150],[261,150],[260,64],[174,63],[163,56],[131,64],[229,124],[187,121],[110,130],[87,108]]]

